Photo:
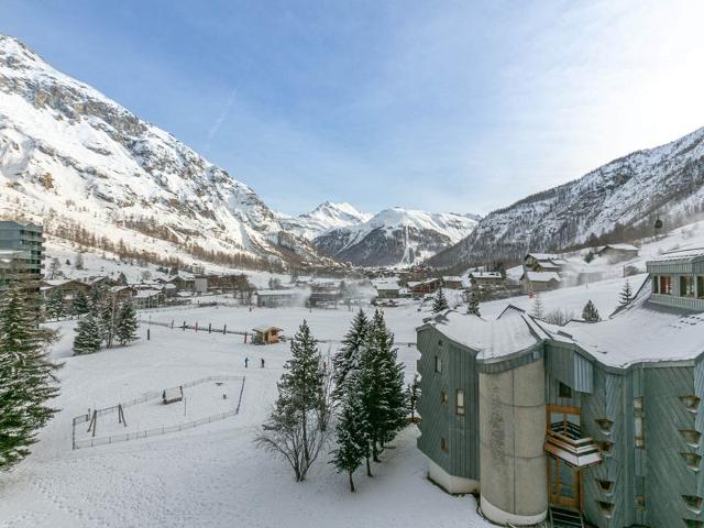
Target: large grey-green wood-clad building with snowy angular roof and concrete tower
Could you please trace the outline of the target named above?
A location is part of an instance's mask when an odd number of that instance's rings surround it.
[[[704,249],[647,267],[600,322],[509,307],[419,327],[429,479],[502,526],[703,526]]]

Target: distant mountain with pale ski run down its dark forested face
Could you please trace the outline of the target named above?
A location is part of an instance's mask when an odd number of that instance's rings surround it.
[[[479,217],[394,207],[365,222],[328,231],[316,248],[338,261],[362,266],[411,265],[466,237]]]

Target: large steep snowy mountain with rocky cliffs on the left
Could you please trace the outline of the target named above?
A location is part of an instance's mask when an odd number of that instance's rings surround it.
[[[2,35],[0,188],[0,215],[50,232],[74,226],[87,240],[162,253],[326,262],[245,184]]]

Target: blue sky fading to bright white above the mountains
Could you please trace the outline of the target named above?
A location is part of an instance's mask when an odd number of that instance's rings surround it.
[[[275,210],[485,215],[704,125],[698,0],[0,0]]]

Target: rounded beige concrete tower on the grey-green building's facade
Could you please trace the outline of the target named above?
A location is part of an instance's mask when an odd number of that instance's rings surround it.
[[[548,512],[543,360],[480,373],[481,507],[494,522],[535,525]]]

